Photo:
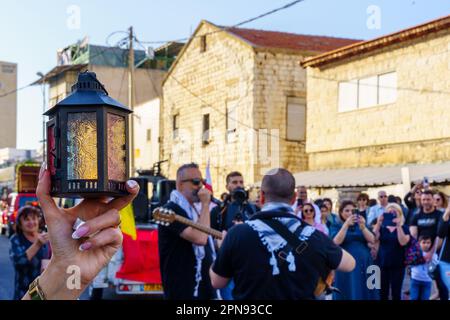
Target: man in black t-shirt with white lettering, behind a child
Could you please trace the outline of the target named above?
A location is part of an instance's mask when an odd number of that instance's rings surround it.
[[[433,192],[425,190],[420,199],[422,209],[414,215],[409,227],[411,235],[416,239],[424,235],[431,237],[434,242],[434,239],[436,238],[442,212],[436,210],[433,201]]]

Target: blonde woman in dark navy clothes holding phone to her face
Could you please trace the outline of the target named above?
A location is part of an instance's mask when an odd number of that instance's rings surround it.
[[[404,256],[410,240],[402,208],[390,203],[380,215],[374,227],[375,239],[379,241],[378,264],[381,270],[381,300],[401,300],[405,276]]]

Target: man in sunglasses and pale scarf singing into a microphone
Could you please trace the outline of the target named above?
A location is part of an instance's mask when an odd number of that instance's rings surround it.
[[[200,202],[200,210],[196,203]],[[164,208],[206,227],[210,226],[211,193],[195,163],[177,170],[176,190]],[[158,246],[165,299],[209,300],[216,297],[208,269],[215,258],[213,240],[206,233],[179,222],[159,226]]]

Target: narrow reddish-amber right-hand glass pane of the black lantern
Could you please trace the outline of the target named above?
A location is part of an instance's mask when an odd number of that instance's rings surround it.
[[[108,113],[108,179],[126,180],[125,117]]]

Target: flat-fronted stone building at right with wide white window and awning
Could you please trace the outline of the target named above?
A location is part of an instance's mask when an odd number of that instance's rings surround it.
[[[450,179],[450,16],[301,66],[310,172],[298,180],[320,188],[403,183],[398,190],[405,190],[424,175]]]

